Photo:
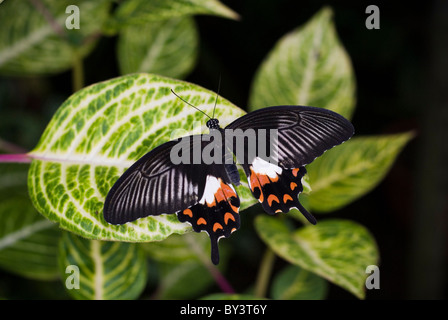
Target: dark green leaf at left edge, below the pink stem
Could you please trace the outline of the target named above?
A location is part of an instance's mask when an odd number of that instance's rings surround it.
[[[60,231],[43,218],[29,200],[28,165],[0,165],[0,267],[23,277],[58,277]]]

